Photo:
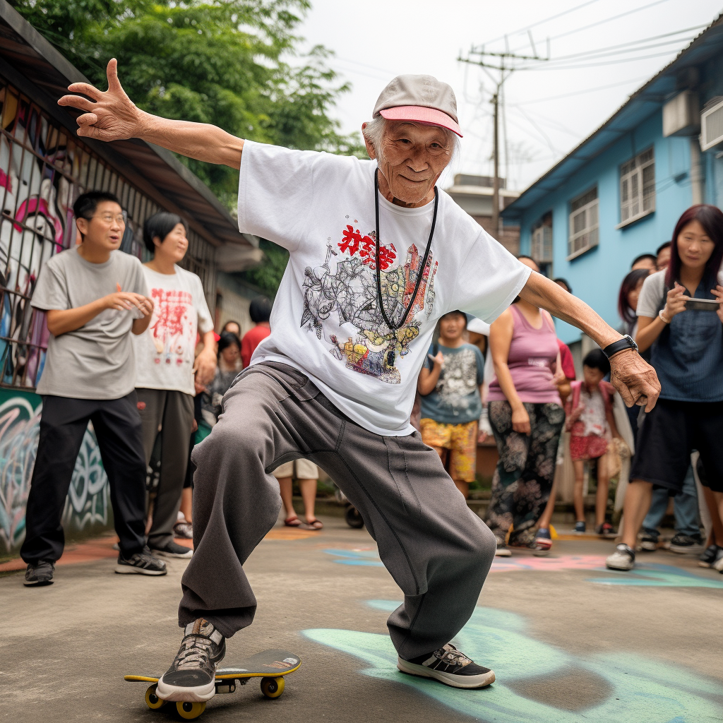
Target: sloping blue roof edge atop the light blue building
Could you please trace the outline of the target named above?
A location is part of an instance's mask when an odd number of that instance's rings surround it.
[[[638,126],[675,95],[677,90],[680,90],[677,87],[677,74],[688,67],[700,65],[722,51],[723,14],[720,14],[688,47],[683,48],[675,59],[630,95],[596,131],[525,189],[517,200],[502,211],[502,215],[508,219],[518,218],[524,209],[560,187],[582,166]]]

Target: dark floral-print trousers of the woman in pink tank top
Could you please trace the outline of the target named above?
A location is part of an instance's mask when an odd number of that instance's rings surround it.
[[[487,525],[504,540],[510,525],[510,544],[526,545],[534,539],[534,526],[544,512],[555,479],[557,445],[565,411],[555,403],[525,403],[531,434],[512,428],[508,401],[489,402],[489,423],[500,461],[492,478]]]

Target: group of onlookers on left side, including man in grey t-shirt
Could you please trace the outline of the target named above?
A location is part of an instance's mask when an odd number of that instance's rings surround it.
[[[75,201],[79,243],[49,260],[32,304],[51,333],[38,383],[40,438],[20,555],[25,584],[53,582],[64,548],[61,515],[89,422],[110,482],[119,536],[117,573],[166,574],[163,557],[191,557],[193,445],[208,436],[223,395],[270,333],[271,304],[250,304],[254,327],[241,337],[227,321],[217,335],[200,278],[179,266],[188,226],[162,211],[148,218],[141,264],[119,251],[126,215],[108,192]],[[320,529],[314,515],[317,471],[278,469],[286,524]],[[304,521],[291,506],[299,478]]]

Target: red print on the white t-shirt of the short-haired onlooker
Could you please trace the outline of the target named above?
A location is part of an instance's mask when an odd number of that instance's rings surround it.
[[[155,307],[149,332],[158,354],[153,361],[181,366],[184,361],[193,359],[196,343],[193,338],[196,319],[193,296],[175,288],[151,288],[150,295]]]

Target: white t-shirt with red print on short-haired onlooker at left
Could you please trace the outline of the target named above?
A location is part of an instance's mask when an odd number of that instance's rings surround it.
[[[196,334],[213,329],[200,278],[174,266],[164,274],[143,267],[153,317],[144,333],[133,338],[136,387],[195,394],[193,362]]]

